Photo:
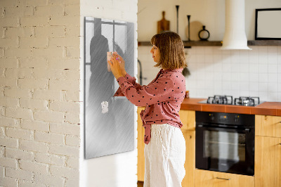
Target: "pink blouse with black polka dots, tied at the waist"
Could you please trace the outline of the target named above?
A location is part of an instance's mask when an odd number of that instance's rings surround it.
[[[136,78],[128,73],[117,79],[119,89],[114,96],[126,96],[133,105],[145,106],[145,110],[141,110],[145,144],[150,142],[151,124],[170,124],[178,128],[183,126],[178,115],[186,90],[182,71],[183,68],[161,69],[147,86],[136,83]]]

